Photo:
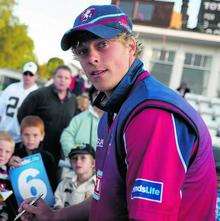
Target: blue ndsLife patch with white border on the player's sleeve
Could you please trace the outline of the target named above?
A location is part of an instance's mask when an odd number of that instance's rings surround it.
[[[131,192],[131,199],[143,199],[162,202],[163,183],[152,180],[136,179]]]

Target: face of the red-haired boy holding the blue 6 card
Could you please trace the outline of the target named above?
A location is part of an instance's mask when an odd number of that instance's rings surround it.
[[[25,127],[21,132],[21,137],[25,148],[28,150],[37,149],[44,139],[44,135],[38,127]]]

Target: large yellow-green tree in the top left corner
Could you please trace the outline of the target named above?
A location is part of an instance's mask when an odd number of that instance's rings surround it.
[[[13,15],[15,4],[15,0],[0,0],[0,67],[18,70],[36,57],[27,26]]]

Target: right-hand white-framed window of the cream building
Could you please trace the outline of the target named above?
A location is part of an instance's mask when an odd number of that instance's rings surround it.
[[[206,94],[212,57],[202,54],[186,53],[182,81],[186,82],[192,93]]]

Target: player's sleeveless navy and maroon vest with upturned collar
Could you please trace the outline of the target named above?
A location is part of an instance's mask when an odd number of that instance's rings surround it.
[[[93,195],[90,220],[128,220],[125,188],[126,171],[124,172],[122,169],[125,161],[122,139],[123,129],[131,115],[135,115],[136,112],[138,113],[138,111],[149,107],[160,108],[178,115],[194,131],[197,142],[196,149],[190,151],[181,149],[183,158],[189,158],[189,161],[186,162],[185,185],[187,188],[183,188],[182,191],[183,201],[185,200],[184,195],[189,196],[193,193],[193,189],[197,189],[196,185],[200,185],[199,188],[203,189],[204,194],[209,191],[210,187],[213,189],[209,193],[211,195],[209,197],[210,202],[212,203],[205,205],[204,209],[200,208],[200,216],[198,216],[198,212],[192,211],[190,208],[192,202],[189,202],[189,204],[184,202],[180,208],[178,220],[187,221],[187,217],[190,217],[190,220],[197,221],[199,217],[208,217],[207,213],[214,210],[216,198],[216,177],[213,175],[215,174],[215,166],[210,135],[198,113],[184,98],[144,71],[143,64],[138,59],[134,61],[111,97],[105,101],[103,96],[104,94],[100,94],[95,101],[95,105],[105,110],[106,113],[102,117],[98,128],[97,183]],[[112,121],[111,116],[115,113],[117,116]],[[191,155],[187,156],[187,154]],[[196,179],[202,180],[202,182],[194,183],[193,180]],[[204,180],[205,182],[203,182]],[[190,182],[192,182],[191,186],[189,185]],[[192,196],[192,199],[194,198]],[[181,211],[184,211],[184,214],[181,214]]]

